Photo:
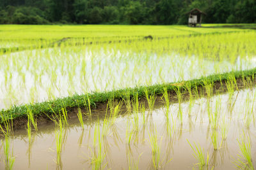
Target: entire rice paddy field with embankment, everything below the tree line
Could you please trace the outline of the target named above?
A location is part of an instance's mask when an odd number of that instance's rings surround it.
[[[256,25],[0,25],[0,169],[254,169]]]

